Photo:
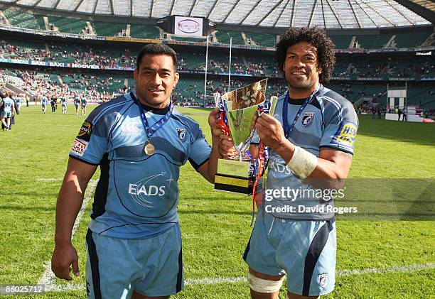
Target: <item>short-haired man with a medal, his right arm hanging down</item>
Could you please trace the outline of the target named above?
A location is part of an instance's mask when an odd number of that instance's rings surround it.
[[[218,164],[218,109],[210,148],[196,121],[171,103],[177,58],[167,45],[137,55],[136,90],[94,109],[70,151],[56,207],[55,276],[79,276],[71,232],[100,165],[86,236],[88,298],[168,298],[183,288],[178,177],[187,161],[210,183]],[[225,138],[225,136],[222,136]]]

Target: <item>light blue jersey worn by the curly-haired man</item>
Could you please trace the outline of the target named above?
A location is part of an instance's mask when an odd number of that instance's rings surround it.
[[[274,117],[282,124],[282,109],[286,94],[281,95],[276,104]],[[292,124],[296,113],[298,112],[304,99],[290,99],[289,108],[287,113],[288,124]],[[314,97],[311,104],[304,109],[299,116],[294,129],[291,131],[289,141],[296,146],[304,148],[306,151],[319,156],[321,148],[333,148],[338,151],[353,154],[353,146],[355,143],[355,136],[358,131],[358,117],[355,113],[353,105],[340,94],[334,92],[326,87],[321,87],[317,97]],[[258,137],[254,142],[258,142]],[[304,183],[299,177],[294,175],[291,168],[286,165],[285,161],[273,150],[270,151],[270,159],[268,165],[268,173],[266,180],[266,188],[273,192],[273,190],[305,190],[309,186]],[[270,193],[272,195],[272,193]],[[277,192],[276,192],[277,194]],[[329,205],[333,207],[331,200],[319,199],[312,197],[311,194],[306,193],[304,196],[296,196],[292,193],[284,194],[281,196],[273,196],[272,200],[265,201],[265,205],[272,205],[272,207],[291,207],[296,209],[292,212],[272,212],[275,217],[284,219],[296,220],[316,220],[316,219],[330,219],[334,216],[331,212],[301,212],[299,206],[302,207],[321,207]],[[270,199],[270,197],[269,197]],[[270,209],[270,207],[269,207]],[[321,210],[320,210],[321,211]]]

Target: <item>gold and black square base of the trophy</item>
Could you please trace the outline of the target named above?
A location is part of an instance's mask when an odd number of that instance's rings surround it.
[[[254,178],[249,175],[252,161],[218,160],[215,190],[252,195]]]

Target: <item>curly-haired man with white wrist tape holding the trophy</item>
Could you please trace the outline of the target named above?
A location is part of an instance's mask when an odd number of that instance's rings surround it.
[[[334,214],[299,212],[299,206],[327,207],[332,200],[276,191],[339,187],[352,163],[358,118],[347,99],[321,85],[335,64],[334,45],[323,30],[289,29],[276,45],[276,60],[288,90],[274,116],[254,118],[270,160],[265,184],[257,187],[259,211],[243,258],[252,298],[278,298],[285,274],[288,298],[318,298],[335,286]],[[254,146],[250,151],[257,156]]]

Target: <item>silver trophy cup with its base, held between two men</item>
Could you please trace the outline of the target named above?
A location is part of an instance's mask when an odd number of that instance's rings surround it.
[[[273,115],[277,102],[277,97],[266,99],[266,88],[267,79],[264,79],[222,97],[215,94],[215,104],[224,112],[220,116],[220,128],[229,132],[238,153],[232,158],[219,159],[215,189],[252,194],[257,168],[247,150],[255,134],[254,116],[262,112]]]

